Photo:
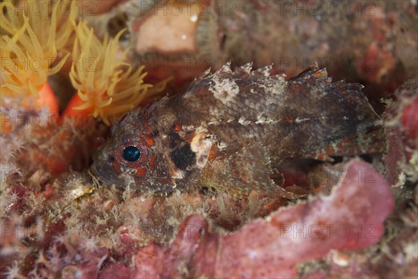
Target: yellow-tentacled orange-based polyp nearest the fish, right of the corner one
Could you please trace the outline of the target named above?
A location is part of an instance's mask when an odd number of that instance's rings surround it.
[[[105,36],[100,42],[86,22],[79,22],[76,27],[70,79],[84,104],[74,109],[89,109],[107,125],[165,87],[164,82],[155,87],[144,83],[144,67],[134,71],[125,62],[129,49],[118,51],[118,40],[124,31],[111,40]]]

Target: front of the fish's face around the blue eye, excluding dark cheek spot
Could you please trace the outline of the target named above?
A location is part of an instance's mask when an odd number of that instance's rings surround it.
[[[102,182],[162,191],[171,184],[164,154],[155,145],[160,133],[152,122],[148,109],[135,109],[112,127],[111,138],[93,157],[93,171]]]

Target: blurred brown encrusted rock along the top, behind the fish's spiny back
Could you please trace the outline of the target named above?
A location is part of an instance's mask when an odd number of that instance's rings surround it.
[[[126,1],[91,24],[112,32],[127,27],[123,45],[133,47],[132,62],[153,77],[173,74],[186,88],[208,67],[230,60],[235,67],[274,63],[273,72],[289,77],[317,61],[336,80],[361,82],[378,101],[418,74],[417,19],[414,1],[152,0]],[[165,23],[160,36],[155,22]],[[144,40],[145,34],[153,35]],[[166,38],[182,44],[176,48]]]

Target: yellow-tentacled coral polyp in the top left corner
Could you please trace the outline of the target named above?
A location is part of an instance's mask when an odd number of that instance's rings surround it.
[[[60,58],[59,51],[73,32],[75,1],[26,4],[17,8],[10,0],[0,3],[1,97],[38,97],[47,77],[59,72],[69,55]],[[63,5],[68,13],[63,13]]]

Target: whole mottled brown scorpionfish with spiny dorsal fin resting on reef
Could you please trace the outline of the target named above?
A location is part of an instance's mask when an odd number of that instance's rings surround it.
[[[295,198],[279,166],[373,152],[378,115],[363,86],[312,65],[291,79],[271,66],[230,63],[196,78],[187,91],[134,109],[94,157],[107,184],[169,193],[205,186]]]

